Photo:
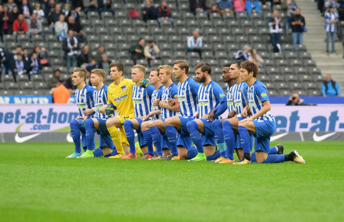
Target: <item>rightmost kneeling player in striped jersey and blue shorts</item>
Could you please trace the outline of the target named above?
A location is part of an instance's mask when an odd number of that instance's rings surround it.
[[[249,132],[257,136],[255,144],[257,163],[280,163],[284,161],[305,163],[296,150],[288,155],[268,155],[270,136],[276,131],[276,121],[270,112],[268,91],[262,82],[256,80],[257,74],[258,65],[256,63],[244,61],[240,64],[240,77],[249,86],[247,90],[248,105],[244,108],[243,114],[246,116],[250,112],[252,116],[239,121],[238,131],[244,157],[233,164],[251,163]]]

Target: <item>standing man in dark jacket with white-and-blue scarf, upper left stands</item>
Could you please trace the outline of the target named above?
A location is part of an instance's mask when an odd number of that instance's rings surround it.
[[[68,36],[62,42],[62,49],[64,50],[64,59],[66,59],[67,72],[69,68],[77,66],[77,55],[79,49],[79,43],[74,36],[73,30],[68,30]]]

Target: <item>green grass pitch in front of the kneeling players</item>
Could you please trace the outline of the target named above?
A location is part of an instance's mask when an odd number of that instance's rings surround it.
[[[283,144],[307,164],[65,159],[71,143],[0,143],[0,221],[344,221],[343,142]]]

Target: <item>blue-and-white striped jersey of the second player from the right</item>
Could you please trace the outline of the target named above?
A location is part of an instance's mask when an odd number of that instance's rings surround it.
[[[247,88],[248,85],[246,82],[241,82],[239,85],[234,83],[230,87],[230,94],[232,95],[232,101],[237,115],[242,113],[247,106]]]

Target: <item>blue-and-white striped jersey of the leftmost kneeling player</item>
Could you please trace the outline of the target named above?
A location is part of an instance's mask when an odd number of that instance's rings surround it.
[[[85,87],[79,91],[78,89],[75,90],[75,102],[79,109],[80,116],[86,116],[84,111],[86,109],[92,109],[94,107],[93,103],[93,92],[94,89],[90,85],[85,85]],[[87,115],[88,117],[93,117],[92,115]]]

